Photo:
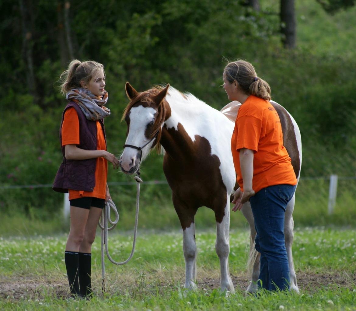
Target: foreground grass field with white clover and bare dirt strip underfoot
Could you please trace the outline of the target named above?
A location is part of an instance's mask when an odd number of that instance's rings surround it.
[[[131,262],[118,267],[108,259],[106,293],[101,288],[100,236],[93,245],[91,301],[68,299],[64,267],[66,235],[0,239],[1,310],[356,310],[355,231],[297,228],[293,245],[301,294],[246,294],[245,229],[232,230],[230,273],[236,293],[219,291],[215,232],[197,228],[198,290],[184,291],[182,234],[139,230]],[[132,237],[109,237],[112,257],[128,257]]]

